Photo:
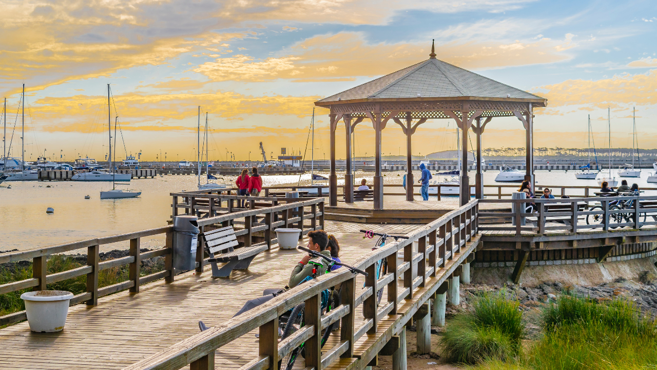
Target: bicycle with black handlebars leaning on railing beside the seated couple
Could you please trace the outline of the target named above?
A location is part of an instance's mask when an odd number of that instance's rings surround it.
[[[309,250],[304,247],[297,247],[299,250],[306,251],[311,255],[311,257],[320,257],[322,259],[325,259],[328,262],[328,267],[327,271],[331,270],[331,267],[333,266],[344,266],[348,270],[351,271],[351,273],[359,273],[363,274],[367,277],[367,273],[365,271],[356,269],[355,267],[351,267],[349,265],[346,265],[346,263],[342,262],[337,262],[332,258],[329,258],[321,253],[318,253],[317,251]],[[323,268],[324,266],[321,263],[315,262],[315,261],[308,261],[308,263],[311,263],[315,267],[321,267]],[[313,275],[311,277],[307,277],[304,279],[300,284],[312,280],[313,278],[317,277],[317,269],[313,269]],[[326,313],[330,312],[332,309],[335,309],[336,307],[340,306],[340,290],[336,290],[335,287],[331,287],[328,290],[324,290],[322,292],[322,300],[321,300],[321,313],[322,315],[325,315]],[[306,307],[306,304],[298,304],[292,308],[292,310],[288,311],[288,313],[283,314],[279,321],[281,322],[282,330],[283,330],[283,335],[281,335],[281,340],[284,340],[297,330],[301,329],[306,325],[304,322],[304,309]],[[320,342],[320,348],[324,347],[324,344],[326,344],[328,340],[328,336],[330,335],[330,332],[333,330],[335,325],[337,325],[337,321],[335,323],[332,323],[328,325],[328,327],[325,329],[324,334],[322,335],[321,342]],[[279,369],[281,370],[292,370],[292,367],[294,366],[294,362],[296,359],[299,357],[299,355],[304,356],[305,352],[305,342],[302,343],[300,346],[297,348],[294,348],[294,350],[290,351],[285,357],[279,360]],[[305,356],[304,356],[305,357]]]

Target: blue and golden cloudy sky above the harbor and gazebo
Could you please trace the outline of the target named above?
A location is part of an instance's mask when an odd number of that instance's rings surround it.
[[[633,108],[639,147],[657,147],[655,1],[0,0],[0,9],[5,144],[16,157],[25,84],[27,159],[104,160],[110,121],[121,129],[117,158],[191,161],[206,114],[210,160],[261,159],[259,142],[267,157],[286,147],[309,158],[314,101],[428,59],[434,39],[438,59],[548,99],[535,110],[537,147],[588,147],[589,116],[597,148],[608,136],[632,147]],[[328,110],[315,108],[314,122],[315,158],[327,158]],[[344,124],[336,135],[344,158]],[[367,120],[356,126],[355,155],[373,155],[373,138]],[[482,141],[524,146],[522,124],[493,119]],[[389,124],[383,153],[405,147]],[[413,155],[454,147],[453,120],[413,136]]]

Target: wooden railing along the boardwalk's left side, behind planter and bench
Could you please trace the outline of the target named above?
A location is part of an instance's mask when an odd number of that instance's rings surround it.
[[[237,196],[223,196],[223,199],[235,201]],[[253,198],[253,197],[251,197]],[[255,201],[254,199],[249,199]],[[299,199],[290,199],[299,200]],[[306,225],[309,223],[309,225]],[[273,207],[264,207],[260,209],[249,209],[235,213],[228,213],[217,217],[200,219],[198,225],[201,231],[206,228],[229,226],[234,225],[235,234],[242,238],[242,244],[246,247],[254,244],[254,239],[258,237],[258,233],[262,232],[263,244],[267,244],[271,248],[272,244],[277,243],[275,233],[272,233],[275,228],[283,226],[294,226],[302,229],[302,234],[307,234],[310,230],[315,230],[324,227],[324,199],[303,199],[303,201],[290,201],[283,205]],[[241,227],[239,227],[241,226]],[[158,234],[166,234],[165,248],[140,252],[141,238],[153,236]],[[127,257],[110,259],[108,261],[100,261],[100,246],[104,244],[112,244],[116,242],[129,241],[129,255]],[[200,240],[199,240],[200,242]],[[150,230],[142,230],[137,232],[130,232],[127,234],[120,234],[115,236],[107,236],[104,238],[94,238],[89,240],[82,240],[79,242],[72,242],[62,244],[59,246],[52,246],[47,248],[36,248],[28,251],[18,251],[12,253],[0,254],[0,264],[10,263],[16,261],[24,261],[32,259],[32,278],[20,280],[16,282],[9,282],[0,285],[0,294],[7,294],[33,288],[34,290],[47,290],[46,285],[70,278],[76,278],[83,275],[87,277],[86,291],[77,294],[71,299],[70,304],[79,304],[85,302],[87,305],[96,305],[98,298],[108,294],[120,292],[122,290],[130,290],[130,292],[139,292],[139,286],[166,278],[167,282],[172,282],[174,274],[173,271],[173,226],[165,226],[161,228],[153,228]],[[47,274],[46,260],[50,255],[57,253],[65,253],[79,249],[87,249],[87,265],[71,269],[68,271],[61,271],[54,274]],[[164,271],[153,273],[144,277],[139,274],[140,261],[157,256],[164,256]],[[203,248],[197,249],[196,254],[196,271],[202,271],[203,266],[208,264],[207,259],[204,258]],[[98,287],[99,272],[112,267],[129,265],[129,279],[113,284],[110,286]],[[15,323],[26,319],[25,311],[11,313],[9,315],[0,317],[0,326]]]

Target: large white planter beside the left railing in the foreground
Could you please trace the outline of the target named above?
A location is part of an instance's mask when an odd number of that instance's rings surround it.
[[[30,330],[35,332],[55,332],[64,329],[68,304],[73,293],[64,290],[37,290],[20,295],[25,301]]]

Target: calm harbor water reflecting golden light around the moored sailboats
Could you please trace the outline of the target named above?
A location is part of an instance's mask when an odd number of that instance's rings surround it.
[[[328,172],[323,172],[328,176]],[[384,183],[401,184],[403,172],[384,172]],[[355,178],[373,182],[373,172],[356,172]],[[484,183],[494,184],[497,172],[484,172]],[[416,175],[419,178],[419,173]],[[637,182],[639,186],[648,184],[648,171],[643,171],[642,178],[628,179],[629,184]],[[438,176],[434,176],[434,179]],[[470,174],[474,181],[474,174]],[[227,178],[226,180],[230,180]],[[310,174],[264,176],[265,186],[283,186],[289,184],[309,184]],[[574,172],[536,172],[539,185],[597,185],[595,180],[577,180]],[[171,192],[196,189],[195,176],[165,175],[164,177],[132,180],[129,186],[142,192],[133,199],[99,199],[101,190],[111,188],[111,183],[104,182],[11,182],[0,185],[0,250],[28,250],[64,244],[87,238],[97,238],[122,234],[147,228],[165,226],[171,217]],[[219,180],[221,182],[221,180]],[[11,189],[7,187],[11,185]],[[338,173],[338,184],[344,184],[344,172]],[[51,188],[46,186],[50,185]],[[517,186],[511,184],[510,186]],[[402,188],[386,192],[402,192]],[[486,192],[497,192],[489,189]],[[504,192],[509,192],[505,190]],[[91,199],[84,199],[85,195]],[[581,192],[583,194],[583,192]],[[657,192],[646,192],[646,195]],[[576,195],[576,194],[568,194]],[[401,197],[400,197],[401,198]],[[435,197],[433,197],[436,199]],[[55,213],[47,214],[47,207],[53,207]],[[164,236],[143,238],[142,246],[157,247],[164,245]],[[102,250],[127,248],[127,242],[121,245],[109,245]]]

